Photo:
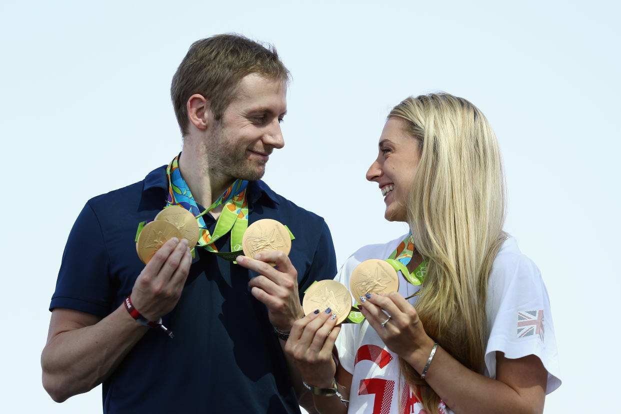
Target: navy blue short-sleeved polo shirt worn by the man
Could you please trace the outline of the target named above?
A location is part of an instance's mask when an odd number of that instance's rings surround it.
[[[144,265],[134,237],[139,222],[165,206],[165,167],[140,182],[94,197],[69,235],[50,310],[106,317],[130,294]],[[249,222],[274,218],[296,237],[289,258],[299,292],[332,279],[336,259],[324,219],[271,191],[248,184]],[[215,220],[203,216],[212,231]],[[217,241],[230,251],[230,233]],[[197,248],[175,309],[174,331],[149,330],[103,384],[105,413],[297,413],[284,356],[266,307],[248,289],[253,272]]]

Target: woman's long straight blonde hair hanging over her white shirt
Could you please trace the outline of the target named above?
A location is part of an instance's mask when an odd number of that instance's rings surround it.
[[[420,143],[407,205],[414,245],[428,258],[416,310],[427,335],[466,367],[483,373],[487,278],[506,238],[496,136],[477,107],[446,93],[409,97],[391,110],[391,117],[406,120],[407,132]],[[438,395],[407,362],[400,365],[425,410],[435,412]]]

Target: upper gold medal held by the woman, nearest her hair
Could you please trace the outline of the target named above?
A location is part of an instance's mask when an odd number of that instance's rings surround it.
[[[399,277],[386,261],[368,259],[351,272],[350,289],[355,298],[367,293],[396,292],[399,290]]]

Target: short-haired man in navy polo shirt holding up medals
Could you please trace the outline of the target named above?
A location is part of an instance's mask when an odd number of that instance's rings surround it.
[[[303,315],[299,294],[336,266],[324,220],[260,181],[284,145],[288,78],[275,50],[238,35],[191,46],[171,86],[183,151],[143,181],[89,200],[71,230],[42,353],[55,401],[103,383],[106,413],[299,412],[276,335]],[[193,258],[185,239],[172,238],[145,266],[138,223],[174,204],[205,213],[202,246]],[[245,218],[287,225],[289,257],[235,264],[214,253],[239,249]]]

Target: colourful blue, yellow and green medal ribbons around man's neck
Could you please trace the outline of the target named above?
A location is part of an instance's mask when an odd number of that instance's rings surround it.
[[[166,207],[170,205],[181,205],[184,209],[191,212],[196,217],[200,236],[198,246],[217,253],[218,249],[214,242],[220,237],[231,232],[231,252],[242,250],[242,236],[248,228],[248,202],[246,200],[246,188],[248,181],[236,179],[233,184],[215,200],[214,204],[209,208],[200,212],[196,200],[192,196],[188,184],[181,176],[179,171],[179,155],[176,156],[168,167],[166,167],[166,177],[168,178],[168,197],[166,199]],[[210,212],[219,205],[224,204],[222,213],[215,223],[214,233],[209,233],[207,225],[202,215]],[[220,253],[224,254],[224,253]]]

